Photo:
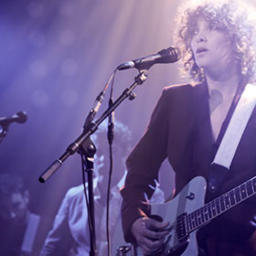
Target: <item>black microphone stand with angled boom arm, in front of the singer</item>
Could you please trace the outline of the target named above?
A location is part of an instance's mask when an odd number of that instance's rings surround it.
[[[39,176],[38,180],[41,182],[41,183],[44,183],[48,180],[48,178],[50,176],[52,176],[58,169],[59,167],[64,163],[64,161],[69,157],[69,155],[73,155],[74,153],[76,152],[86,152],[88,149],[89,151],[93,151],[95,149],[95,146],[93,144],[87,144],[87,140],[89,140],[90,138],[90,135],[92,133],[95,133],[99,127],[99,125],[104,121],[105,118],[107,118],[126,98],[129,97],[129,100],[133,100],[135,98],[135,94],[133,93],[133,89],[137,86],[137,85],[141,85],[144,83],[144,81],[146,80],[147,78],[147,70],[144,69],[144,70],[140,70],[140,73],[135,77],[134,79],[134,82],[133,84],[126,88],[122,95],[112,103],[111,106],[109,106],[109,108],[103,112],[101,114],[101,117],[95,121],[95,123],[88,123],[88,124],[85,124],[85,127],[84,127],[84,130],[83,130],[83,133],[80,134],[80,136],[71,144],[69,144],[68,148],[66,149],[66,152],[61,155],[59,157],[59,159],[55,160],[52,165],[50,165],[48,167],[48,169],[42,173],[41,176]],[[84,147],[84,144],[86,144],[86,146]],[[93,148],[94,147],[94,148]],[[84,149],[85,148],[85,149]],[[96,150],[95,150],[96,152]],[[94,153],[95,153],[94,152]],[[94,155],[94,153],[92,155]],[[87,156],[88,157],[88,156]],[[89,158],[91,156],[89,155]],[[89,173],[92,174],[92,169],[93,169],[93,165],[91,165],[93,163],[93,161],[89,162],[87,165],[89,166]],[[91,187],[91,191],[93,189],[93,186],[92,186],[92,176],[90,177],[90,184],[89,184]],[[90,193],[90,201],[93,201],[93,191],[92,193],[90,192],[89,190],[89,193]],[[92,228],[92,231],[91,231],[91,245],[94,245],[96,244],[95,243],[95,223],[94,223],[94,205],[93,205],[93,202],[90,203],[91,204],[91,228]],[[93,216],[92,216],[93,215]],[[93,221],[93,222],[92,222]],[[96,247],[96,246],[95,246]],[[96,256],[96,248],[94,249],[91,249],[91,256]]]

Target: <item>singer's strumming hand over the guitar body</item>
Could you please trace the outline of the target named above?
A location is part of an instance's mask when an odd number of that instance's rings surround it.
[[[153,255],[160,250],[168,235],[169,222],[143,217],[133,222],[132,232],[144,255]]]

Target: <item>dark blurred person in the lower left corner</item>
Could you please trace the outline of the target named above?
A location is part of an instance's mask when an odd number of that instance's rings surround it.
[[[38,255],[47,236],[50,221],[28,209],[29,192],[21,177],[0,175],[0,254]]]

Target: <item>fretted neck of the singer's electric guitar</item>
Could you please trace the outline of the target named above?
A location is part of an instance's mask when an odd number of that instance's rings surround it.
[[[218,217],[220,214],[230,208],[239,205],[242,201],[256,194],[256,176],[244,182],[238,187],[235,187],[224,195],[208,202],[204,207],[187,214],[184,217],[184,222],[187,228],[187,233],[191,233],[196,229],[207,224],[211,219]]]

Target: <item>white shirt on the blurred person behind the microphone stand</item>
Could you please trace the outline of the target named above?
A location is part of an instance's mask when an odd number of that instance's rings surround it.
[[[106,208],[100,203],[100,190],[97,187],[98,179],[94,179],[94,212],[96,245],[98,255],[107,255],[106,236]],[[112,187],[110,202],[110,230],[120,219],[122,197],[119,187]],[[48,233],[41,256],[62,255],[60,251],[67,246],[70,249],[66,255],[89,255],[90,254],[90,232],[88,225],[88,211],[85,202],[83,185],[72,187],[64,197],[59,212],[54,220],[53,229]],[[71,242],[69,243],[69,241]],[[69,244],[68,244],[69,243]],[[66,252],[64,250],[64,252]],[[60,254],[56,254],[60,253]]]

